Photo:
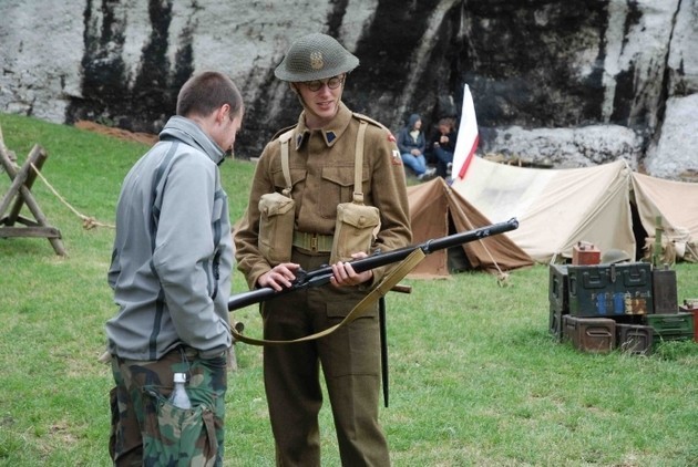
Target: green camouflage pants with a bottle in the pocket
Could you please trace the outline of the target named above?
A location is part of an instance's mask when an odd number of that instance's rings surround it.
[[[110,455],[115,466],[222,466],[226,354],[201,359],[179,347],[157,361],[112,357]],[[191,409],[167,397],[174,373],[187,373]]]

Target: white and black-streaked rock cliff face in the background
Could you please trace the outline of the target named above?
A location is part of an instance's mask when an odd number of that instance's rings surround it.
[[[626,158],[698,178],[698,0],[40,0],[0,2],[0,112],[157,132],[194,72],[228,73],[256,156],[299,105],[274,68],[307,32],[361,64],[349,106],[398,131],[460,113],[481,151],[556,167]]]

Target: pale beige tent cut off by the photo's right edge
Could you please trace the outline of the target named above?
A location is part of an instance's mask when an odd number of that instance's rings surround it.
[[[660,217],[663,237],[676,247],[677,258],[698,260],[698,184],[633,174],[633,198],[648,237]]]

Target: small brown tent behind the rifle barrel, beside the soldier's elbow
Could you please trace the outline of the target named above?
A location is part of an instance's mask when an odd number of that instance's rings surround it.
[[[493,224],[442,178],[409,187],[408,197],[413,243]],[[507,238],[510,234],[511,231],[464,243],[462,247],[454,247],[450,252],[434,251],[427,256],[410,277],[448,276],[450,269],[485,269],[497,272],[533,264],[531,257]],[[449,257],[451,263],[463,259],[465,264],[449,268]]]

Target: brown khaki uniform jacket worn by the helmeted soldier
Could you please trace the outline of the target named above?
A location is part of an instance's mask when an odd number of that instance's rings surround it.
[[[311,131],[300,114],[289,142],[291,197],[296,204],[295,229],[301,232],[333,235],[337,205],[350,203],[355,183],[355,147],[360,120],[369,123],[363,151],[363,204],[380,210],[380,230],[374,248],[390,251],[412,241],[404,169],[394,137],[388,128],[359,114],[343,103],[332,122]],[[279,133],[280,134],[280,133]],[[249,204],[235,235],[238,269],[250,289],[271,268],[257,248],[259,197],[281,193],[286,186],[281,172],[281,144],[277,134],[267,144],[255,172]],[[373,270],[373,283],[384,271]]]

